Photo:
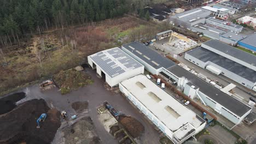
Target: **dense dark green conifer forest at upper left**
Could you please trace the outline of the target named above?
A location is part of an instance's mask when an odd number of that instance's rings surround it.
[[[21,35],[122,16],[129,0],[1,0],[0,45]],[[12,42],[13,41],[13,42]]]

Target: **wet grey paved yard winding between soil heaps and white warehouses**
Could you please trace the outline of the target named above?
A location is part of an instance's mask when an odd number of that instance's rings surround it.
[[[139,113],[135,107],[133,107],[128,100],[126,100],[120,93],[110,92],[104,88],[103,79],[99,79],[96,76],[96,70],[87,69],[86,73],[92,76],[94,83],[83,88],[79,88],[77,91],[73,91],[69,94],[61,95],[57,88],[50,89],[49,91],[42,92],[40,91],[38,85],[27,87],[22,91],[26,92],[27,97],[19,101],[30,99],[45,99],[50,107],[55,107],[57,110],[65,110],[68,114],[68,117],[75,115],[75,111],[72,109],[71,104],[75,101],[89,101],[89,112],[86,115],[92,118],[92,121],[95,125],[95,130],[100,137],[102,143],[114,144],[118,143],[112,135],[110,135],[100,123],[98,119],[98,114],[96,107],[99,106],[104,100],[107,100],[112,104],[115,109],[126,115],[131,115],[140,121],[144,127],[145,131],[140,137],[140,142],[145,143],[159,143],[160,134],[156,131],[152,124],[150,124],[144,116]],[[56,134],[58,135],[58,134]],[[55,143],[61,143],[59,141],[54,141]]]

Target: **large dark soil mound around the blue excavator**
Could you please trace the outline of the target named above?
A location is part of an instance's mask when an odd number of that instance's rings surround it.
[[[47,117],[37,129],[36,121],[42,113]],[[50,110],[43,99],[26,101],[0,116],[0,143],[50,143],[60,125],[60,112]]]

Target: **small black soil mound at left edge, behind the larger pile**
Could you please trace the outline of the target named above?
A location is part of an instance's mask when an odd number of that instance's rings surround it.
[[[1,106],[0,115],[13,110],[16,107],[15,103],[25,97],[26,97],[26,94],[22,92],[22,93],[14,93],[0,99],[0,106]]]

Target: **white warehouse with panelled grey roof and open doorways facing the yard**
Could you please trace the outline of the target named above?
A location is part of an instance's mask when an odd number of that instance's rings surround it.
[[[92,69],[97,69],[100,77],[106,77],[106,82],[110,87],[144,73],[144,66],[118,47],[88,56],[88,63]]]

